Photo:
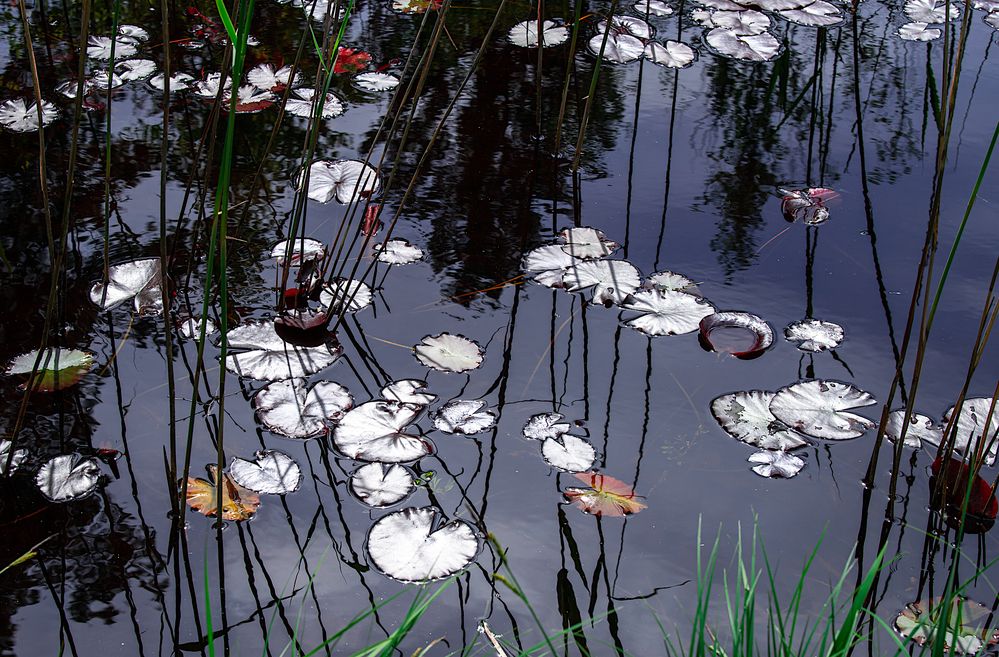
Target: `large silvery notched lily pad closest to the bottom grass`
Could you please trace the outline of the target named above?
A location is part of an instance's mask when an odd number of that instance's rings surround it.
[[[468,523],[442,520],[434,507],[382,516],[368,532],[371,563],[400,582],[429,582],[459,572],[475,559],[479,539]]]

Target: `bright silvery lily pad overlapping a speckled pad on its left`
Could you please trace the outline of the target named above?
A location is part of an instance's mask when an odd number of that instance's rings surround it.
[[[849,440],[862,436],[875,424],[846,411],[875,403],[870,393],[849,383],[802,381],[778,390],[770,402],[770,412],[806,436]]]

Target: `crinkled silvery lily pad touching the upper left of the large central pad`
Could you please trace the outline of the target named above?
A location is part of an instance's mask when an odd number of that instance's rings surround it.
[[[289,379],[261,388],[253,406],[268,430],[304,439],[325,434],[354,406],[354,398],[333,381],[320,381],[309,389],[305,379]]]

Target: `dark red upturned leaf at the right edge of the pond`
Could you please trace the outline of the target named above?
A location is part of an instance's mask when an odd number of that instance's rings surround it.
[[[968,477],[971,468],[958,459],[937,458],[932,466],[933,477],[930,478],[930,504],[937,511],[947,511],[948,523],[960,522],[961,507],[964,497],[968,494]],[[943,481],[939,481],[943,477]],[[981,533],[991,529],[993,521],[999,513],[999,502],[992,492],[992,486],[980,476],[975,475],[971,482],[968,498],[967,531]]]

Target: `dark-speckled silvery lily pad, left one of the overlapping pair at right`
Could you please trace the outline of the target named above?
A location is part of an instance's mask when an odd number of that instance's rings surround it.
[[[749,390],[722,395],[711,402],[711,414],[728,435],[747,445],[781,451],[807,445],[801,434],[770,412],[774,394]]]

